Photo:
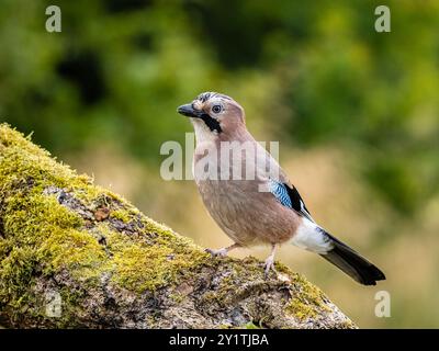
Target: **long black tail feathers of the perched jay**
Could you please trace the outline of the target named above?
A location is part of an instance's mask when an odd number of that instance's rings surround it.
[[[320,254],[325,260],[337,265],[363,285],[376,285],[376,281],[385,280],[385,275],[380,269],[330,234],[326,231],[325,234],[334,244],[334,249],[326,254]]]

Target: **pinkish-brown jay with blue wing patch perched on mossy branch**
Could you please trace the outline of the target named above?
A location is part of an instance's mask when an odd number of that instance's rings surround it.
[[[380,269],[315,223],[297,189],[247,131],[244,109],[236,101],[221,93],[204,92],[177,111],[190,117],[195,131],[193,176],[203,203],[234,240],[229,247],[206,249],[207,252],[222,257],[235,248],[269,245],[271,254],[264,264],[268,275],[274,270],[277,248],[290,242],[318,253],[363,285],[385,280]],[[234,147],[223,148],[227,144]],[[238,161],[223,161],[225,152],[229,156],[230,150],[243,145],[252,146],[254,152],[244,152],[241,148]],[[214,169],[207,177],[206,166]],[[252,177],[230,176],[248,169],[254,170]]]

